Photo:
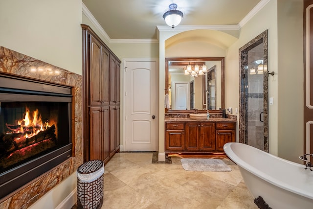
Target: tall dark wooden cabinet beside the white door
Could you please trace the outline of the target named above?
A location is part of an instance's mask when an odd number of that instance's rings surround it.
[[[86,24],[83,28],[83,159],[104,163],[120,146],[120,64]]]

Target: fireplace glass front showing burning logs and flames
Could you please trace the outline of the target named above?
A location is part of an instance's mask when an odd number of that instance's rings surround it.
[[[70,143],[67,102],[0,103],[0,173]]]

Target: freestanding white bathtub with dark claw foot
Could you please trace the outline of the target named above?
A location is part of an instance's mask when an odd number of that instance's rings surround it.
[[[272,209],[313,208],[313,171],[305,165],[243,143],[226,143],[224,151],[238,165],[254,198],[261,196]]]

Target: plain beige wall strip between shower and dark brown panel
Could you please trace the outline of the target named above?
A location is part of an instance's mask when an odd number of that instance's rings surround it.
[[[302,163],[303,0],[278,0],[278,156]]]

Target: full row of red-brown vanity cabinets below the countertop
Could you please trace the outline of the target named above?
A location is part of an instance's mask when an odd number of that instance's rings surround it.
[[[236,122],[165,122],[165,152],[223,152],[235,140]]]

